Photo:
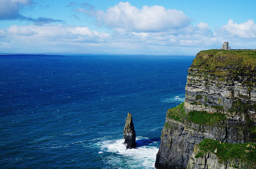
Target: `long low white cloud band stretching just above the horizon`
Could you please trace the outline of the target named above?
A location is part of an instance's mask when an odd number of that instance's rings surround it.
[[[108,52],[108,53],[168,53],[171,48],[207,49],[219,39],[215,38],[206,23],[186,26],[180,29],[168,29],[158,32],[127,31],[114,28],[111,33],[100,33],[84,26],[66,25],[12,25],[0,29],[1,48],[10,50],[20,47],[25,52],[26,46],[39,51],[69,52]],[[7,45],[8,44],[8,45]],[[134,50],[131,50],[131,49]],[[184,50],[182,49],[182,50]],[[176,50],[176,49],[175,49]],[[181,50],[181,49],[180,49]],[[188,53],[188,50],[185,49]],[[191,51],[190,51],[191,52]]]

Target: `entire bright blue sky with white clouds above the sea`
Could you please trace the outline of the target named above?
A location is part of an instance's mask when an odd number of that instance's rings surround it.
[[[0,53],[195,55],[256,48],[256,1],[0,0]]]

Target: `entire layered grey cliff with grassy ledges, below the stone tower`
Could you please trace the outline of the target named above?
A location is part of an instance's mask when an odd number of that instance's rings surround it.
[[[212,169],[256,168],[255,148],[246,150],[255,153],[252,159],[203,148],[204,158],[197,159],[194,152],[204,139],[235,147],[256,142],[256,51],[200,51],[188,74],[184,103],[167,111],[155,167],[205,168],[208,161],[216,164]]]

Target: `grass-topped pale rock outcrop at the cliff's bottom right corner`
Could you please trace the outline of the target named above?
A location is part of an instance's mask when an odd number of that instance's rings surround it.
[[[202,148],[210,149],[209,151],[202,152]],[[250,161],[255,159],[256,154],[252,149],[255,149],[255,143],[229,144],[212,139],[205,139],[199,145],[195,144],[194,152],[188,161],[187,169],[253,169],[256,168],[255,163],[251,163]],[[218,157],[218,154],[225,154],[226,156],[222,155],[222,157]],[[230,158],[228,156],[237,157]]]

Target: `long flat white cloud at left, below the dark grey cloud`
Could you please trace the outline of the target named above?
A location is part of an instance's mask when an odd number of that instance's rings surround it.
[[[92,31],[88,27],[64,25],[12,25],[5,31],[1,31],[8,33],[7,38],[12,39],[13,41],[19,41],[22,38],[21,36],[27,36],[26,39],[31,42],[68,41],[99,43],[109,37],[109,34],[107,33]]]

